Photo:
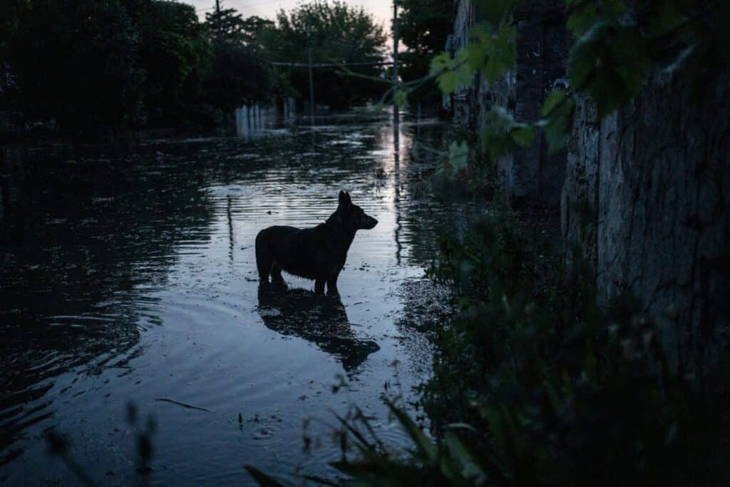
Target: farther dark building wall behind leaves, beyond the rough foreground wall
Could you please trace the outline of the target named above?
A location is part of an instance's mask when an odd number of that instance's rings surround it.
[[[474,0],[456,0],[454,37],[456,47],[469,42],[469,31],[480,21]],[[567,87],[565,72],[569,37],[561,1],[537,0],[520,4],[515,12],[518,29],[516,72],[496,83],[477,75],[472,85],[453,96],[457,120],[478,126],[494,105],[504,107],[518,121],[533,122],[541,116],[542,102],[553,89]],[[560,204],[566,152],[549,153],[545,140],[518,150],[498,162],[502,187],[515,207]]]

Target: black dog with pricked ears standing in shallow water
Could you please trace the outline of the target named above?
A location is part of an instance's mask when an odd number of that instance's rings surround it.
[[[345,266],[355,232],[369,230],[377,220],[353,204],[350,194],[339,192],[337,211],[312,229],[269,226],[256,235],[256,266],[261,284],[283,283],[281,271],[315,280],[315,292],[337,294],[337,276]]]

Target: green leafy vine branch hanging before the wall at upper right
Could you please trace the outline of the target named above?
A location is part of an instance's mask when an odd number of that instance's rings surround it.
[[[517,34],[508,19],[517,3],[500,2],[502,11],[493,15],[502,18],[499,25],[477,24],[472,28],[469,45],[453,58],[442,53],[431,61],[431,72],[437,74],[442,93],[450,95],[468,87],[477,74],[491,84],[514,71]],[[666,62],[667,53],[673,56],[666,69],[669,72],[695,66],[693,58],[699,55],[695,47],[707,39],[696,38],[702,33],[691,27],[712,15],[729,13],[728,7],[721,2],[710,2],[702,9],[696,9],[691,2],[667,4],[669,7],[660,4],[649,9],[642,18],[634,11],[638,7],[623,0],[566,0],[566,27],[576,37],[567,66],[570,88],[548,93],[542,118],[532,123],[518,122],[504,108],[493,108],[480,128],[482,150],[496,161],[531,145],[539,133],[545,135],[551,151],[561,149],[572,128],[580,96],[589,96],[599,118],[603,118],[639,93],[651,70]],[[672,49],[667,50],[668,46]],[[677,50],[675,46],[685,47]],[[688,77],[696,75],[689,73]],[[460,153],[450,165],[462,167],[463,161]]]

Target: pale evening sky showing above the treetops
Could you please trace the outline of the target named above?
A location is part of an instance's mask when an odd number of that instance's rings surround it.
[[[201,18],[204,18],[205,12],[212,11],[212,7],[215,7],[215,0],[182,0],[186,4],[192,4],[198,12]],[[363,7],[367,12],[374,15],[383,27],[388,31],[391,23],[390,19],[393,15],[393,1],[392,0],[344,0],[346,4],[350,4],[354,7]],[[221,8],[237,9],[242,13],[244,17],[250,15],[258,15],[259,17],[274,19],[276,12],[280,9],[291,10],[296,7],[297,4],[302,3],[301,0],[221,0]],[[210,10],[203,10],[210,9]]]

